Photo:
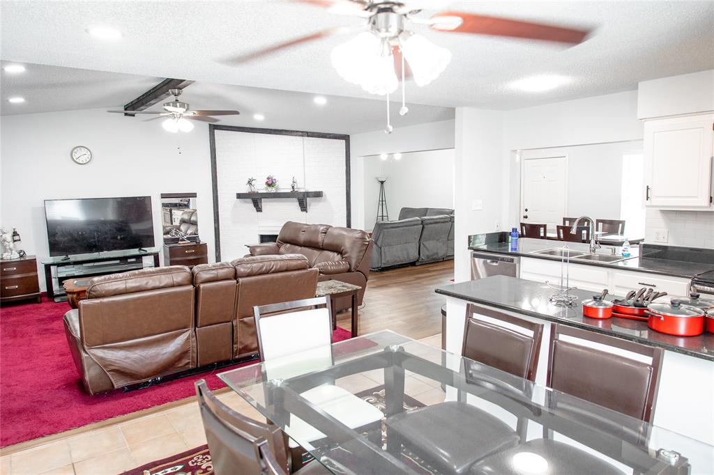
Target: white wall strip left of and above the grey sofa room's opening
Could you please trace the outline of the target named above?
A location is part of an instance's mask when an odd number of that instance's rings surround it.
[[[454,147],[455,121],[440,121],[397,127],[391,134],[383,129],[350,136],[352,227],[364,229],[364,162],[367,155],[417,152]],[[371,225],[370,225],[371,226]]]

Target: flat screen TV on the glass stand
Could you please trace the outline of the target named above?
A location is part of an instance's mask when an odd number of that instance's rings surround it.
[[[49,255],[154,246],[151,196],[45,200]]]

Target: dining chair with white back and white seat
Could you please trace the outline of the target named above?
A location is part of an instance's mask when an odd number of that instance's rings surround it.
[[[266,379],[289,379],[331,367],[330,305],[328,297],[316,297],[253,307]],[[334,384],[321,384],[300,395],[351,429],[378,428],[384,417],[380,409]],[[325,437],[294,415],[288,427],[290,430],[286,431],[291,434],[300,434],[297,436],[300,441],[313,442]],[[288,445],[291,449],[298,447],[293,439]]]

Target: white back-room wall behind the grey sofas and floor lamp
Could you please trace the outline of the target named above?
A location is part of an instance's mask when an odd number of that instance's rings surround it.
[[[384,190],[389,219],[409,208],[453,208],[454,150],[403,153],[400,160],[364,157],[365,227],[371,230],[377,217],[378,176],[386,176]]]

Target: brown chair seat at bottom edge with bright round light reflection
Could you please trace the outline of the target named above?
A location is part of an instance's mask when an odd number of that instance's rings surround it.
[[[524,454],[519,459],[518,454]],[[544,463],[545,462],[545,463]],[[623,472],[574,446],[535,439],[494,454],[471,467],[471,475],[622,475]]]

